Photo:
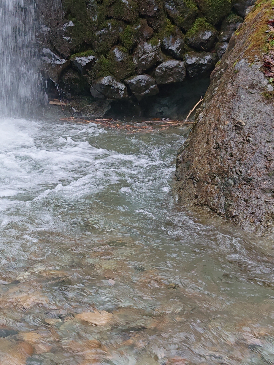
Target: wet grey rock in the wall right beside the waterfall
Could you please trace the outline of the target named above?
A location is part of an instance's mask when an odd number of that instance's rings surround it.
[[[62,72],[64,72],[71,64],[65,58],[53,53],[49,48],[42,49],[42,74],[44,78],[49,78],[57,83]]]

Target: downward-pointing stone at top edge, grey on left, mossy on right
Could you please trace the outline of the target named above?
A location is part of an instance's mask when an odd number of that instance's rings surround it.
[[[164,8],[174,23],[185,30],[191,27],[198,15],[198,8],[193,0],[166,0]]]

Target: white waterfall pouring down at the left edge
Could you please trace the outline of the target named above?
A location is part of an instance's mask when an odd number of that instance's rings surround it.
[[[0,0],[0,115],[22,116],[39,97],[35,3]]]

